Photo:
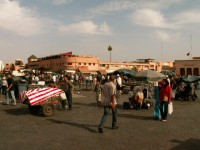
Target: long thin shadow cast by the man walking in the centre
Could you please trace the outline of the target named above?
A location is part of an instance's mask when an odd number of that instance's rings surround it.
[[[61,120],[56,120],[56,119],[47,119],[47,120],[51,121],[53,123],[56,123],[56,124],[66,124],[66,125],[77,127],[77,128],[83,128],[91,133],[98,133],[96,130],[90,128],[90,127],[97,128],[97,126],[95,126],[95,125],[79,124],[79,123],[75,123],[75,122],[61,121]]]

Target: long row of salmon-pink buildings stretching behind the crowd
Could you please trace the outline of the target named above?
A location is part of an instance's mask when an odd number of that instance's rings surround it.
[[[170,64],[173,63],[168,63]],[[156,70],[162,71],[163,63],[154,59],[138,59],[134,62],[103,62],[98,57],[73,55],[72,52],[50,55],[37,58],[32,55],[28,58],[29,69],[44,69],[51,71],[80,70],[81,72],[106,71],[113,72],[118,69],[127,68],[131,70]]]

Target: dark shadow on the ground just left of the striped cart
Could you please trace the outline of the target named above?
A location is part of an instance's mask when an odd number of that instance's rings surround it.
[[[15,109],[5,109],[3,111],[5,111],[7,114],[16,115],[16,116],[30,114],[30,111],[28,110],[28,108],[25,108],[25,107],[15,108]]]

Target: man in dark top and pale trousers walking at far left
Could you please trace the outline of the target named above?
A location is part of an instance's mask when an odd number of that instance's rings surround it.
[[[8,74],[7,83],[8,83],[8,87],[7,87],[7,94],[6,94],[6,104],[9,105],[10,96],[11,96],[13,100],[13,105],[15,106],[16,105],[15,81],[13,80],[11,73]]]

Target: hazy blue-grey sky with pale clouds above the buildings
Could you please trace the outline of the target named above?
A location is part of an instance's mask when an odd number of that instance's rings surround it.
[[[72,51],[109,61],[109,45],[113,62],[190,59],[199,26],[199,0],[0,0],[0,60]]]

